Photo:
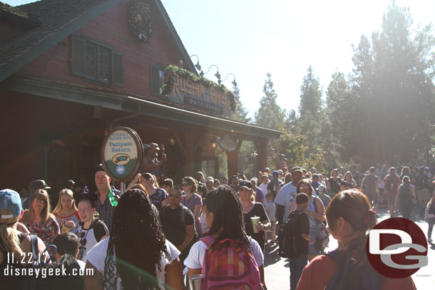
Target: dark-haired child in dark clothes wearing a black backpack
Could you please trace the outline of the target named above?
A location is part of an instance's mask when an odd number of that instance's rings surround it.
[[[296,249],[300,252],[299,257],[290,258],[290,290],[295,290],[299,282],[302,270],[308,262],[308,242],[312,242],[309,237],[309,220],[305,210],[308,207],[308,195],[299,193],[296,195],[297,209],[289,214],[290,217],[295,217],[295,244]]]

